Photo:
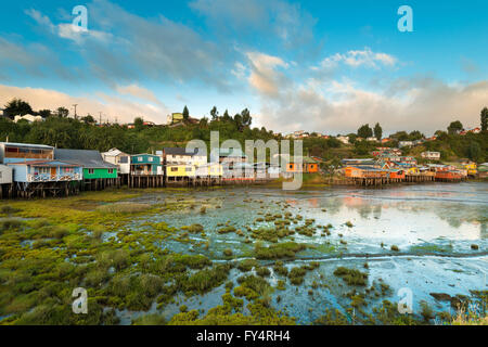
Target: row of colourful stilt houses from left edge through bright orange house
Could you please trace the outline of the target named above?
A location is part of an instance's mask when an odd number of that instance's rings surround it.
[[[165,147],[155,153],[128,154],[117,149],[100,153],[0,142],[0,197],[70,195],[123,184],[210,185],[319,170],[319,163],[306,156],[288,158],[281,168],[269,163],[248,163],[247,156],[236,149],[220,149],[216,155],[218,160],[209,162],[207,153],[197,149]]]

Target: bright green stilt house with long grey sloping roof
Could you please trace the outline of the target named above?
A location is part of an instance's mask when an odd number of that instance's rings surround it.
[[[103,160],[99,151],[54,150],[57,160],[76,164],[82,167],[85,187],[91,190],[118,185],[118,169],[115,164]]]

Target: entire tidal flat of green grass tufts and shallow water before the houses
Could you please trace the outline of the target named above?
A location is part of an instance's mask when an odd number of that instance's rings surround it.
[[[486,317],[488,184],[2,203],[0,323],[434,324]],[[74,287],[89,314],[70,312]],[[411,293],[413,312],[398,312]]]

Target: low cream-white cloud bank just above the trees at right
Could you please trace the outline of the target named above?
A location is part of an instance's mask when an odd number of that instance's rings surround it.
[[[265,126],[281,131],[300,128],[348,133],[362,124],[380,121],[388,132],[421,130],[433,133],[446,129],[457,119],[466,125],[477,124],[480,110],[487,105],[488,81],[458,87],[438,80],[408,85],[395,94],[337,81],[325,87],[295,85],[281,90],[277,98],[262,94],[261,114],[266,117],[260,119]]]

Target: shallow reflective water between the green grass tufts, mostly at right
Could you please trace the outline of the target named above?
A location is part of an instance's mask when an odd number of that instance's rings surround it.
[[[190,234],[190,243],[169,237],[159,246],[179,253],[204,254],[218,261],[223,261],[222,250],[226,248],[231,248],[237,259],[252,257],[254,249],[254,240],[245,244],[244,237],[233,232],[216,232],[221,228],[219,224],[228,223],[249,234],[245,227],[273,227],[273,222],[256,222],[256,218],[262,217],[258,213],[285,211],[303,216],[303,220],[292,223],[291,229],[309,218],[316,220],[314,226],[332,224],[329,236],[322,235],[319,229],[313,236],[295,233],[280,240],[294,240],[314,247],[297,254],[295,260],[286,262],[287,267],[299,266],[310,259],[321,264],[320,268],[307,273],[303,285],[287,284],[285,291],[273,294],[273,306],[296,317],[298,323],[312,322],[324,313],[325,308],[344,310],[348,306],[350,300],[343,294],[350,288],[333,275],[338,266],[365,271],[363,265],[368,262],[369,285],[382,279],[391,288],[369,304],[380,304],[383,299],[398,301],[398,290],[407,287],[413,293],[414,312],[419,310],[421,300],[426,300],[436,310],[449,310],[449,304],[437,301],[429,293],[470,295],[472,290],[488,290],[488,183],[401,185],[382,190],[307,189],[296,192],[227,188],[176,193],[162,191],[137,198],[150,204],[177,200],[190,201],[195,207],[141,218],[131,227],[144,228],[141,226],[144,222],[162,221],[176,228],[200,223],[205,229],[205,236]],[[201,206],[207,207],[206,214],[200,214]],[[347,221],[352,227],[346,226]],[[206,241],[208,249],[202,246]],[[478,246],[477,250],[472,249],[473,244]],[[398,246],[399,252],[390,250],[391,245]],[[265,264],[271,265],[272,261]],[[235,280],[241,274],[233,270],[231,279]],[[268,281],[275,285],[278,279],[285,280],[271,273]],[[310,295],[308,290],[313,281],[324,286],[319,286]],[[178,300],[189,309],[205,312],[221,304],[223,293],[223,287],[219,287],[203,297],[180,297]],[[278,295],[282,298],[280,303],[277,301]],[[177,305],[168,305],[164,309],[168,318],[177,312]]]

